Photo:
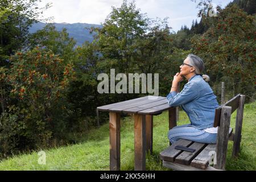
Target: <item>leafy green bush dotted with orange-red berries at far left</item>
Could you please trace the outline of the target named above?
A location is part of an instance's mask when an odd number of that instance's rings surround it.
[[[72,114],[65,96],[69,82],[75,79],[73,65],[63,64],[52,52],[38,48],[18,52],[10,60],[12,67],[6,79],[13,88],[10,97],[17,101],[18,119],[24,125],[19,133],[24,138],[23,147],[44,147],[51,145],[52,139],[64,139]]]

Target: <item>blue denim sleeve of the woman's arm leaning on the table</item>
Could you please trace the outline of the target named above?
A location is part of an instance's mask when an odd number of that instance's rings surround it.
[[[194,100],[198,94],[198,86],[196,83],[188,82],[180,93],[175,91],[170,92],[166,98],[170,106],[179,106]]]

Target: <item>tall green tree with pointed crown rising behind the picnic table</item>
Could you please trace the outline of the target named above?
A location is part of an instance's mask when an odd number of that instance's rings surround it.
[[[123,1],[120,8],[113,7],[97,32],[94,46],[101,53],[96,73],[109,73],[115,68],[118,73],[159,73],[160,87],[166,87],[163,78],[174,75],[175,60],[170,59],[175,51],[167,19],[149,19],[136,9],[135,3]],[[183,52],[182,50],[180,50]],[[182,53],[181,53],[182,54]],[[179,57],[179,62],[181,59]],[[161,94],[166,95],[163,89]],[[136,94],[106,96],[105,100],[117,102],[138,97]],[[110,102],[109,102],[110,103]]]

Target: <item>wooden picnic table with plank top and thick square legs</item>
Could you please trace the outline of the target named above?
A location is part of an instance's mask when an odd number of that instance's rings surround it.
[[[153,115],[169,110],[169,128],[176,125],[175,107],[166,97],[146,96],[97,107],[109,111],[110,170],[120,170],[120,114],[134,114],[134,169],[146,170],[146,151],[152,154]]]

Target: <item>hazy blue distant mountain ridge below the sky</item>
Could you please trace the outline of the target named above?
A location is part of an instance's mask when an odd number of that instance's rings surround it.
[[[88,23],[53,23],[57,31],[61,31],[63,28],[67,28],[69,37],[76,40],[76,45],[81,46],[85,41],[92,42],[93,35],[89,33],[89,30],[85,28],[90,27],[102,27],[100,24],[88,24]],[[42,30],[46,26],[46,23],[38,22],[34,23],[30,28],[30,33],[34,33],[38,30]]]

